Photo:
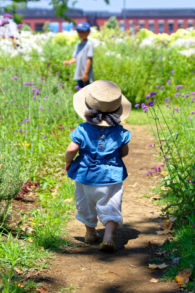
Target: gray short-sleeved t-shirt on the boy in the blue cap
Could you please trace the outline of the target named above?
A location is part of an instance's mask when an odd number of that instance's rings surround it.
[[[86,67],[87,59],[90,57],[92,58],[93,56],[94,47],[90,40],[76,44],[72,54],[72,58],[76,58],[76,67],[73,77],[74,80],[81,80],[81,76],[83,75]],[[93,63],[91,64],[91,68],[89,69],[88,73],[90,84],[95,80],[92,65]]]

